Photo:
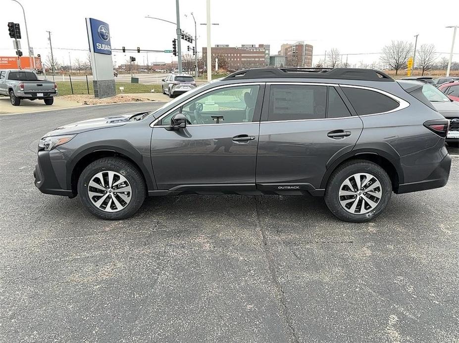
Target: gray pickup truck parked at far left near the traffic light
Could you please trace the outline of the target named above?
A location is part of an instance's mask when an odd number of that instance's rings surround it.
[[[43,99],[46,105],[52,105],[57,85],[39,80],[30,70],[5,69],[0,70],[0,94],[9,96],[13,106],[19,106],[21,99]]]

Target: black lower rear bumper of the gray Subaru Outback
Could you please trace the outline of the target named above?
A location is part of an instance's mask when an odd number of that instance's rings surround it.
[[[397,194],[423,191],[426,189],[440,188],[447,184],[450,176],[451,156],[447,154],[438,167],[425,179],[417,182],[399,185]]]

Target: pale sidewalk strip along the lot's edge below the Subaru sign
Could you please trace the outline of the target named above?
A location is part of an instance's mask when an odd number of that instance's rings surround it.
[[[137,94],[118,94],[104,99],[95,99],[94,95],[62,95],[54,97],[51,106],[45,105],[43,100],[21,100],[20,106],[13,106],[9,102],[9,97],[0,96],[0,116],[18,113],[31,113],[59,110],[70,107],[79,107],[96,104],[119,104],[127,102],[161,101],[168,102],[170,98],[161,93],[137,93]]]

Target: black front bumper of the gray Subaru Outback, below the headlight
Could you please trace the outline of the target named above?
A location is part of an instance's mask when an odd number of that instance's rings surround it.
[[[40,151],[38,153],[38,163],[35,166],[34,178],[35,187],[42,193],[67,197],[75,196],[71,190],[62,189],[52,167],[48,151]]]

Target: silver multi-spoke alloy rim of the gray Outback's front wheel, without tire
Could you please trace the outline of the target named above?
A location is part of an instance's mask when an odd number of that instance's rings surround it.
[[[94,206],[105,212],[124,209],[132,197],[132,189],[126,177],[118,172],[103,171],[91,178],[88,195]]]

